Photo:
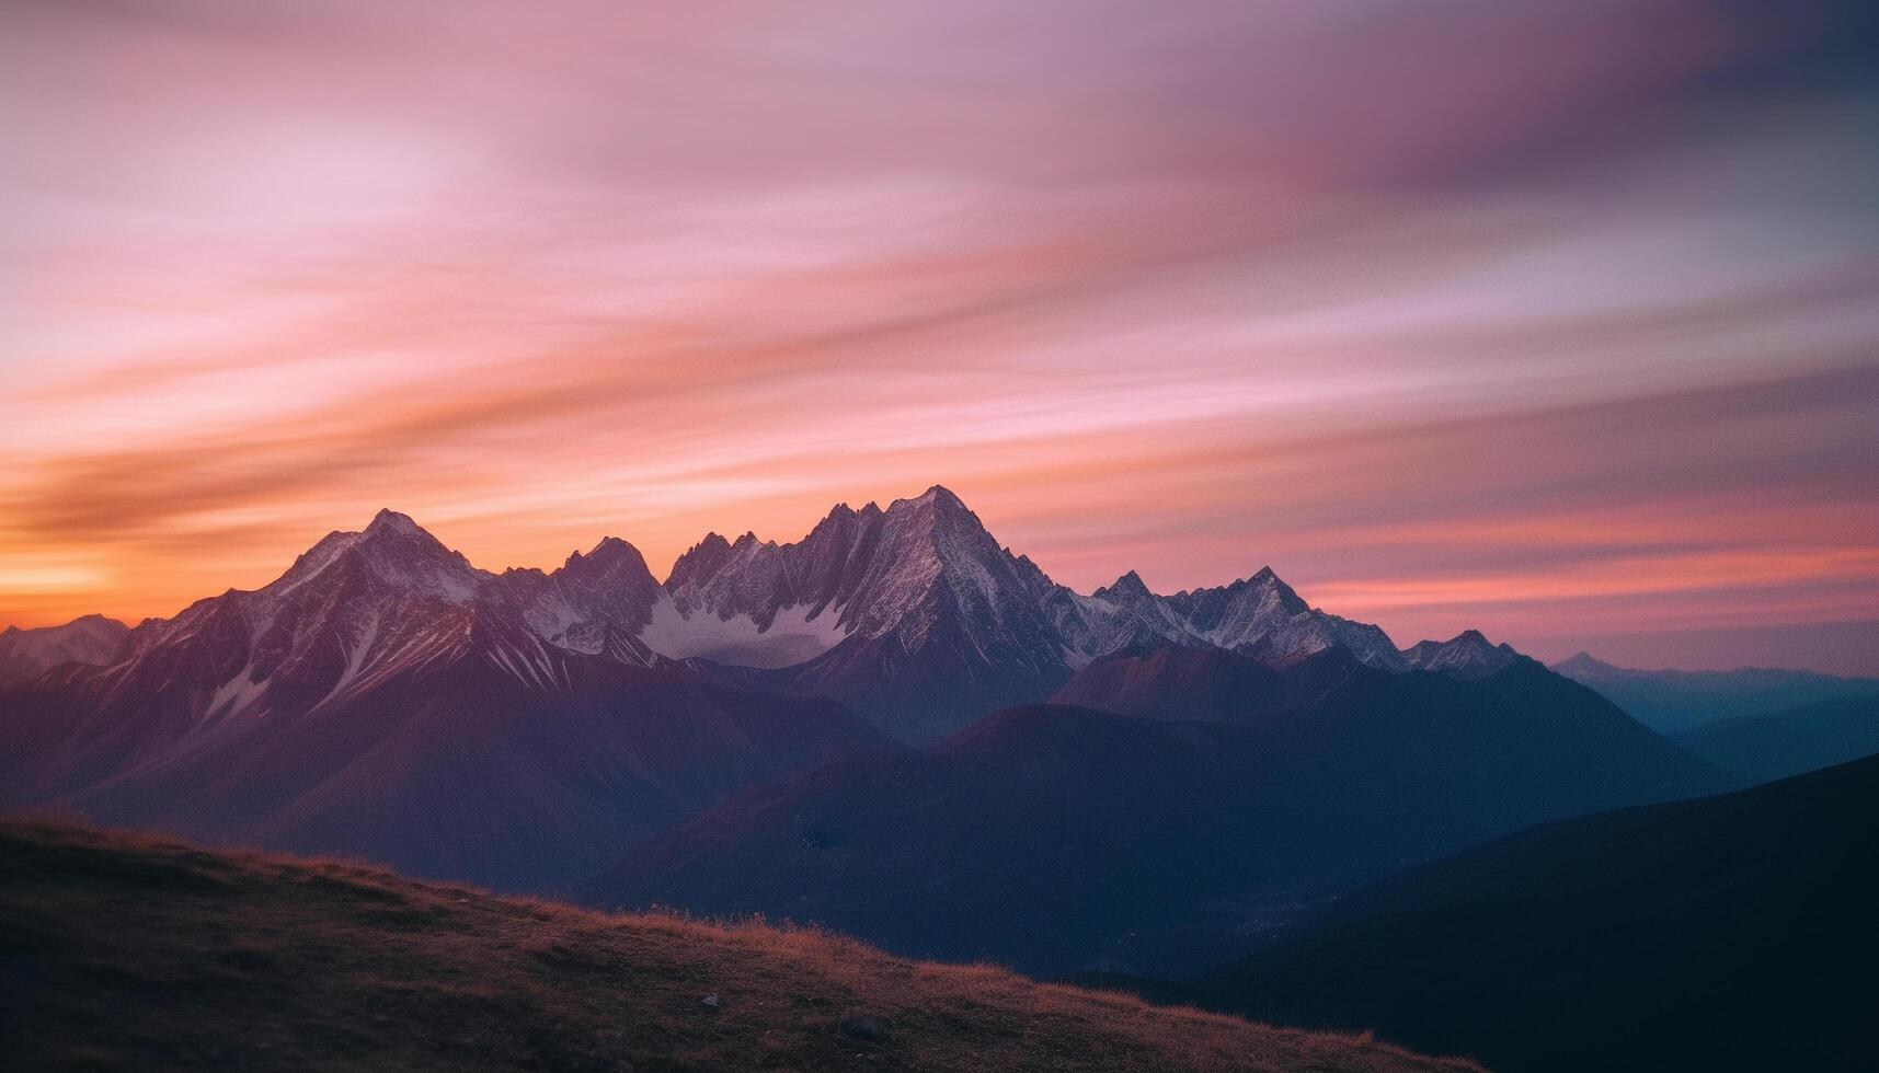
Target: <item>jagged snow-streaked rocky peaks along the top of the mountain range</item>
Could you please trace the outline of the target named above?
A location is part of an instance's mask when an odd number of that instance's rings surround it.
[[[239,648],[256,658],[222,665],[241,633]],[[569,654],[631,667],[691,661],[725,684],[838,699],[921,744],[996,707],[1039,701],[1099,656],[1159,641],[1266,660],[1340,645],[1385,669],[1445,650],[1424,643],[1405,656],[1379,628],[1312,609],[1270,569],[1174,596],[1127,573],[1082,596],[1000,547],[958,496],[934,487],[887,509],[836,505],[797,543],[707,534],[663,584],[618,537],[554,571],[498,575],[381,511],[363,532],[329,534],[274,583],[169,620],[9,631],[0,665],[13,682],[68,661],[107,667],[77,673],[96,678],[214,643],[199,673],[163,686],[222,690],[210,707],[231,714],[319,699],[289,690],[338,697],[468,646],[530,688],[551,688]],[[295,663],[287,678],[276,680],[276,661]]]

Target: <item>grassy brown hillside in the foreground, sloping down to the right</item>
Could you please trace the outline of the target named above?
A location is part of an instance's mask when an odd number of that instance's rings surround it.
[[[1475,1069],[812,932],[53,825],[0,825],[0,951],[13,1069]]]

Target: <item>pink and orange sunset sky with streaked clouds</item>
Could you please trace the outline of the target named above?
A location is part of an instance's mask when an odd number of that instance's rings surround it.
[[[1879,673],[1871,4],[0,6],[0,624],[932,483],[1080,590]]]

